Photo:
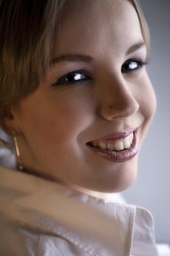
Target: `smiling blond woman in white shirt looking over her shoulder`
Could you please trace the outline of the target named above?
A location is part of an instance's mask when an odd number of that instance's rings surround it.
[[[157,255],[152,217],[107,202],[155,113],[136,1],[1,1],[1,255]]]

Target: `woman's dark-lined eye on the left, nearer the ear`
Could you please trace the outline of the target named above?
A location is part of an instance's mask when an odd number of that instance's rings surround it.
[[[63,75],[52,85],[57,86],[61,84],[77,84],[77,83],[83,83],[88,80],[91,80],[90,76],[87,74],[87,72],[85,72],[85,70],[81,69],[81,70],[75,70],[67,73],[66,75]]]

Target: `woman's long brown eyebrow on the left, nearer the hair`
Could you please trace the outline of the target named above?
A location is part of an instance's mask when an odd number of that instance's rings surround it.
[[[61,56],[58,56],[54,59],[52,59],[51,64],[55,64],[61,61],[85,61],[85,62],[91,62],[93,61],[93,58],[87,55],[82,54],[64,54]]]

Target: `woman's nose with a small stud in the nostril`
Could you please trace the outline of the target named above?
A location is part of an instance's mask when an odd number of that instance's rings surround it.
[[[101,85],[101,104],[100,115],[112,120],[115,117],[128,117],[134,115],[139,110],[139,102],[137,101],[134,85],[125,81],[112,80],[112,83],[105,82]]]

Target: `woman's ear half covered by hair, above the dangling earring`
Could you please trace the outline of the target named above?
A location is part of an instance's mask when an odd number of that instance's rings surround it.
[[[15,108],[11,108],[2,118],[0,118],[0,127],[9,135],[12,135],[14,131],[16,134],[20,133],[19,124],[18,113]]]

